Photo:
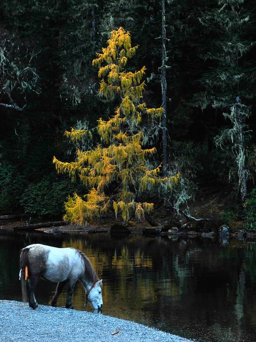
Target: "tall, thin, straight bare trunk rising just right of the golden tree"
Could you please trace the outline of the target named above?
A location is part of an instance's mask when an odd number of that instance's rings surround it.
[[[161,67],[161,85],[162,85],[162,107],[164,109],[162,116],[162,127],[163,127],[163,137],[162,137],[162,145],[163,145],[163,155],[162,155],[162,163],[163,163],[163,171],[166,174],[167,171],[167,113],[166,113],[166,94],[167,94],[167,83],[166,83],[166,62],[167,62],[167,53],[166,53],[166,22],[165,22],[165,0],[162,0],[162,67]]]

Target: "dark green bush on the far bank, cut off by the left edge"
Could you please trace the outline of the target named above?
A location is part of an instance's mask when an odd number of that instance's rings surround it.
[[[12,214],[20,206],[25,181],[16,168],[0,164],[0,214]]]

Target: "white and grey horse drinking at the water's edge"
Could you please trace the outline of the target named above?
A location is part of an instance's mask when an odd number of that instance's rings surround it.
[[[85,287],[85,306],[87,300],[95,310],[103,306],[102,280],[98,279],[87,256],[75,248],[56,248],[39,243],[29,245],[21,250],[20,268],[22,299],[33,309],[38,307],[34,291],[39,278],[58,282],[52,306],[57,306],[57,299],[66,284],[66,308],[73,309],[71,297],[77,280]],[[28,280],[28,300],[25,280]]]

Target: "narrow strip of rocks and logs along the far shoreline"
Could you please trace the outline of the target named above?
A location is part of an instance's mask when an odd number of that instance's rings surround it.
[[[188,238],[204,237],[235,237],[240,240],[256,238],[256,233],[248,232],[243,229],[233,230],[227,225],[222,225],[219,228],[213,225],[202,226],[201,223],[185,222],[182,225],[173,225],[173,222],[168,221],[162,225],[150,226],[149,224],[129,221],[124,225],[121,222],[113,223],[110,219],[101,219],[95,222],[94,225],[76,226],[66,224],[64,221],[44,221],[37,220],[34,223],[28,223],[25,220],[0,220],[0,231],[17,233],[17,232],[41,232],[44,234],[54,235],[84,235],[95,233],[108,233],[111,235],[128,235],[128,234],[143,234],[143,235],[161,235],[161,236],[182,236]]]

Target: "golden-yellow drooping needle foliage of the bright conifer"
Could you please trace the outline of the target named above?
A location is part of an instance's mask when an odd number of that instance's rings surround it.
[[[155,148],[144,149],[144,132],[140,126],[143,118],[148,123],[159,120],[162,108],[147,108],[142,102],[146,67],[132,73],[126,71],[128,60],[138,46],[131,46],[130,33],[122,27],[111,32],[107,47],[92,61],[99,67],[100,94],[114,99],[120,106],[108,120],[98,120],[101,144],[93,150],[76,152],[76,161],[64,163],[53,158],[57,172],[68,173],[72,180],[79,175],[88,193],[82,198],[77,193],[65,202],[64,220],[86,224],[103,213],[114,211],[128,221],[131,214],[142,219],[153,209],[152,203],[138,201],[140,195],[160,184],[171,187],[179,174],[171,178],[159,177],[160,167],[150,169],[148,156]],[[65,136],[78,142],[89,134],[85,130],[65,132]],[[107,194],[105,194],[107,193]]]

